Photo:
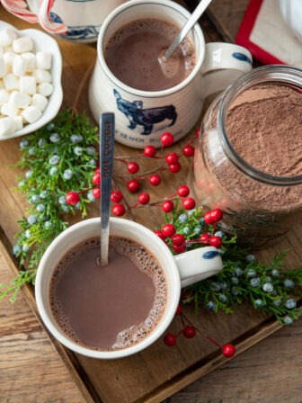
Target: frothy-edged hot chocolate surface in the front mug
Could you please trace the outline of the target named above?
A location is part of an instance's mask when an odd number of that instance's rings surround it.
[[[50,282],[51,311],[66,336],[95,350],[118,350],[149,335],[164,312],[166,280],[144,246],[111,237],[100,266],[100,238],[71,249]]]

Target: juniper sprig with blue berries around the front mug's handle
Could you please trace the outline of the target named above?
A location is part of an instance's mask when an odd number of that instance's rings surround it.
[[[205,307],[232,313],[244,300],[250,300],[255,309],[264,315],[274,315],[281,324],[289,325],[298,319],[302,266],[294,270],[287,267],[284,260],[289,251],[274,255],[269,264],[258,262],[255,255],[237,246],[235,237],[219,230],[217,224],[207,225],[204,212],[202,208],[186,211],[176,205],[172,213],[164,215],[165,223],[173,224],[176,232],[186,238],[187,249],[204,246],[199,242],[201,233],[222,237],[218,249],[223,260],[222,271],[188,287],[182,302],[194,302],[196,311]],[[171,239],[167,238],[166,242],[174,253]]]

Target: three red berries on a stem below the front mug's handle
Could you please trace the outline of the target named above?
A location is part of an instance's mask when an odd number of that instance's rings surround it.
[[[167,347],[173,347],[173,345],[176,345],[177,338],[179,336],[192,339],[197,336],[197,334],[200,334],[200,336],[205,337],[207,340],[209,340],[209,342],[217,345],[221,350],[221,354],[223,354],[225,357],[231,358],[235,355],[235,345],[232,345],[230,343],[227,345],[220,345],[212,337],[205,335],[203,332],[201,332],[200,328],[193,326],[189,318],[187,318],[183,314],[181,305],[177,307],[175,317],[179,317],[181,319],[182,327],[176,334],[166,333],[164,335],[164,345],[166,345]]]

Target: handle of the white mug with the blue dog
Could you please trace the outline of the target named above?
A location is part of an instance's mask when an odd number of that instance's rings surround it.
[[[242,46],[226,42],[206,43],[200,70],[205,79],[204,96],[224,90],[236,78],[251,71],[252,64],[251,52]]]

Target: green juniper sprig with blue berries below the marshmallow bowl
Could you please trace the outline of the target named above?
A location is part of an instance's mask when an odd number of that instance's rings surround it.
[[[13,254],[20,260],[21,270],[9,285],[0,284],[0,299],[12,294],[15,300],[22,284],[34,283],[42,255],[51,241],[67,228],[67,214],[86,215],[88,203],[94,200],[86,193],[75,206],[66,202],[70,189],[80,192],[91,183],[98,152],[97,128],[85,115],[69,110],[34,134],[22,139],[22,157],[16,166],[25,171],[18,178],[17,190],[30,203],[27,217],[18,221]]]

